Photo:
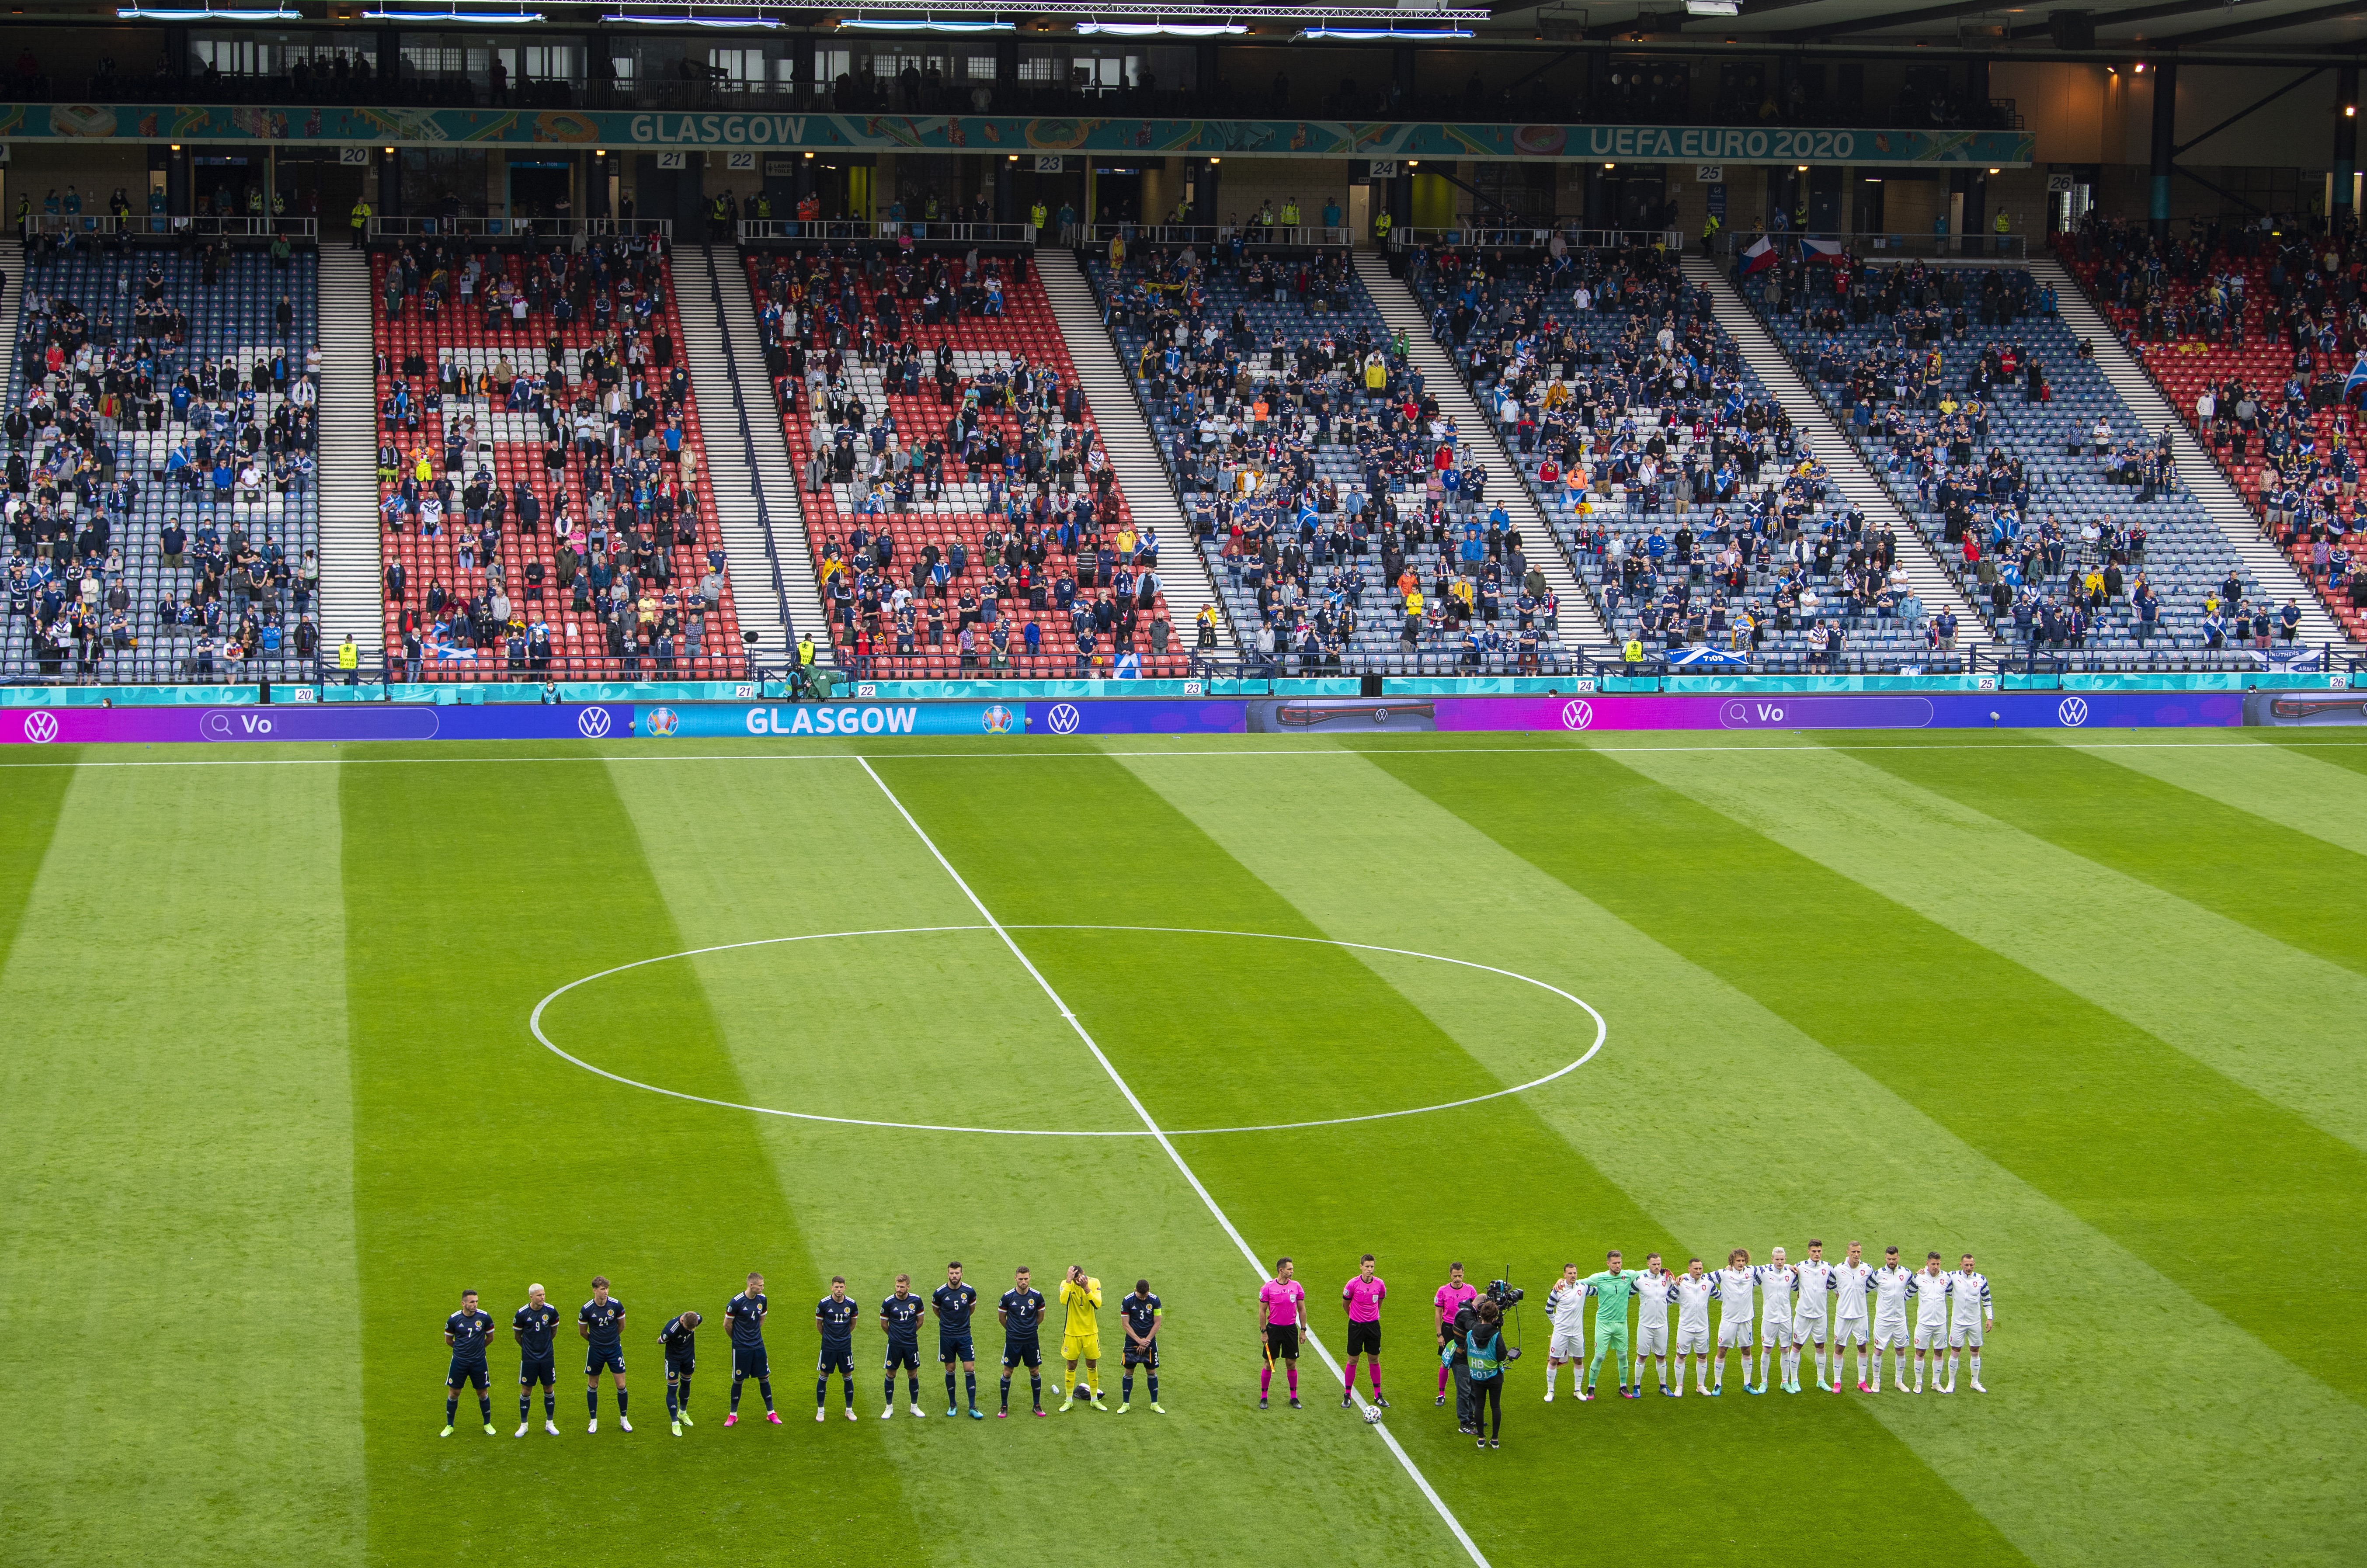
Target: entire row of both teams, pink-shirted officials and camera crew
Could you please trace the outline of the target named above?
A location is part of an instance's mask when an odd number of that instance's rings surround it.
[[[1574,1388],[1579,1400],[1595,1398],[1595,1381],[1602,1360],[1612,1360],[1621,1398],[1643,1398],[1645,1362],[1652,1362],[1664,1395],[1683,1398],[1685,1355],[1697,1358],[1697,1391],[1718,1395],[1726,1388],[1726,1353],[1742,1353],[1744,1393],[1766,1393],[1771,1376],[1780,1372],[1782,1391],[1799,1393],[1801,1350],[1813,1348],[1815,1384],[1820,1391],[1842,1393],[1842,1348],[1856,1346],[1858,1391],[1877,1393],[1882,1386],[1882,1350],[1894,1350],[1894,1374],[1901,1393],[1908,1393],[1905,1358],[1913,1339],[1915,1386],[1924,1388],[1924,1358],[1931,1358],[1931,1386],[1939,1393],[1955,1393],[1958,1355],[1969,1350],[1972,1388],[1981,1386],[1981,1343],[1995,1329],[1995,1305],[1988,1277],[1974,1270],[1972,1253],[1962,1253],[1950,1272],[1941,1272],[1936,1251],[1924,1256],[1924,1268],[1905,1270],[1898,1249],[1884,1249],[1884,1265],[1872,1268],[1863,1258],[1858,1242],[1849,1244],[1842,1263],[1825,1261],[1825,1244],[1811,1239],[1808,1256],[1789,1263],[1785,1249],[1773,1249],[1773,1261],[1754,1265],[1749,1249],[1728,1253],[1726,1268],[1704,1272],[1700,1258],[1690,1258],[1685,1272],[1662,1268],[1662,1256],[1650,1253],[1643,1270],[1621,1268],[1624,1256],[1614,1249],[1605,1256],[1605,1268],[1579,1277],[1579,1265],[1562,1268],[1562,1279],[1546,1294],[1546,1315],[1553,1339],[1546,1358],[1546,1400],[1553,1400],[1560,1367],[1572,1369],[1586,1362],[1586,1379]],[[1340,1391],[1342,1405],[1356,1402],[1356,1362],[1366,1360],[1370,1374],[1373,1407],[1387,1410],[1389,1400],[1380,1391],[1380,1308],[1389,1287],[1375,1272],[1373,1253],[1363,1253],[1359,1270],[1340,1289],[1340,1305],[1347,1315],[1347,1369]],[[1752,1367],[1752,1298],[1759,1298],[1759,1384],[1749,1381]],[[1510,1301],[1520,1296],[1513,1294]],[[1053,1395],[1060,1410],[1075,1407],[1084,1398],[1094,1410],[1108,1410],[1101,1398],[1101,1279],[1070,1265],[1058,1287],[1065,1315],[1060,1360],[1068,1381],[1053,1379]],[[1586,1358],[1586,1303],[1595,1303],[1595,1355]],[[1709,1303],[1718,1303],[1716,1358],[1711,1360]],[[1915,1327],[1908,1331],[1908,1303],[1915,1303]],[[1013,1289],[997,1301],[994,1317],[1004,1329],[1001,1355],[1001,1402],[997,1417],[1011,1414],[1011,1374],[1027,1367],[1030,1405],[1034,1414],[1044,1410],[1041,1381],[1041,1322],[1046,1310],[1044,1291],[1032,1287],[1030,1270],[1013,1275]],[[1482,1296],[1463,1279],[1463,1265],[1449,1268],[1446,1284],[1432,1298],[1439,1346],[1439,1393],[1446,1402],[1449,1376],[1456,1386],[1456,1414],[1465,1433],[1479,1428],[1479,1400],[1489,1395],[1496,1405],[1501,1428],[1501,1376],[1503,1362],[1515,1360],[1501,1353],[1501,1317],[1505,1301]],[[1638,1313],[1633,1350],[1628,1336],[1628,1310]],[[1676,1386],[1669,1384],[1669,1308],[1676,1305]],[[944,1367],[944,1414],[956,1417],[954,1365],[961,1365],[966,1410],[970,1419],[985,1419],[978,1410],[978,1355],[970,1336],[970,1320],[978,1310],[978,1289],[963,1282],[961,1263],[949,1263],[944,1284],[928,1301],[911,1294],[911,1275],[895,1277],[895,1291],[881,1301],[878,1324],[888,1336],[888,1360],[883,1379],[881,1419],[895,1414],[895,1374],[904,1369],[909,1407],[921,1410],[921,1320],[937,1320],[937,1362]],[[724,1327],[731,1339],[731,1410],[724,1426],[739,1424],[741,1393],[748,1379],[757,1381],[765,1400],[765,1419],[781,1424],[772,1398],[772,1362],[765,1350],[765,1317],[769,1301],[765,1277],[748,1275],[748,1289],[736,1294],[724,1308]],[[821,1355],[814,1367],[814,1419],[828,1417],[828,1376],[840,1374],[845,1393],[845,1419],[854,1421],[854,1320],[859,1305],[847,1296],[845,1275],[833,1275],[831,1294],[814,1303],[814,1329],[821,1339]],[[1167,1414],[1160,1400],[1160,1343],[1165,1320],[1160,1298],[1148,1279],[1136,1279],[1134,1291],[1120,1301],[1124,1329],[1124,1374],[1117,1414],[1127,1414],[1134,1402],[1134,1376],[1141,1369],[1148,1379],[1150,1410]],[[625,1388],[625,1305],[608,1294],[608,1279],[592,1279],[592,1298],[575,1315],[578,1334],[587,1341],[585,1353],[585,1402],[589,1426],[599,1431],[599,1379],[606,1372],[615,1384],[618,1426],[632,1431]],[[691,1426],[691,1374],[698,1365],[696,1336],[705,1317],[696,1310],[679,1313],[665,1322],[658,1343],[665,1353],[665,1407],[672,1433],[679,1438]],[[518,1343],[518,1431],[525,1436],[533,1417],[533,1391],[542,1388],[544,1431],[559,1436],[556,1424],[556,1348],[559,1308],[549,1305],[540,1284],[528,1287],[528,1301],[511,1320],[511,1339]],[[1257,1294],[1257,1329],[1264,1372],[1257,1388],[1257,1407],[1266,1410],[1273,1391],[1273,1367],[1281,1362],[1288,1376],[1290,1407],[1299,1407],[1299,1341],[1307,1334],[1307,1289],[1295,1279],[1292,1258],[1276,1258],[1273,1277]],[[462,1391],[478,1391],[478,1412],[485,1433],[492,1436],[490,1374],[485,1346],[492,1336],[492,1315],[478,1308],[476,1291],[462,1291],[462,1310],[445,1320],[445,1346],[452,1353],[445,1374],[445,1426],[459,1410]],[[1825,1376],[1825,1346],[1832,1346],[1832,1379]],[[1868,1367],[1868,1341],[1872,1341],[1872,1367]],[[1948,1376],[1941,1381],[1939,1350],[1948,1350]],[[1477,1355],[1477,1360],[1475,1360]],[[1633,1384],[1628,1360],[1633,1355]],[[1084,1376],[1077,1376],[1079,1362]],[[1486,1445],[1486,1438],[1482,1440]]]

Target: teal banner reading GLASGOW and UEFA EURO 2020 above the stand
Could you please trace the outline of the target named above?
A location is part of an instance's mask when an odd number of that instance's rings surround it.
[[[1782,130],[1737,125],[1446,125],[1425,121],[1139,121],[975,114],[672,114],[613,109],[256,109],[12,104],[0,142],[341,142],[852,151],[1108,151],[1228,158],[1541,158],[1659,163],[2026,166],[2026,130]]]

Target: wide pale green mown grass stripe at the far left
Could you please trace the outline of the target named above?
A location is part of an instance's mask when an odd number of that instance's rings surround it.
[[[57,778],[0,981],[0,1559],[355,1563],[336,776]]]

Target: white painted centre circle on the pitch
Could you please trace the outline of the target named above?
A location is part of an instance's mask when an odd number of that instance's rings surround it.
[[[952,1123],[933,1123],[933,1121],[881,1121],[881,1119],[873,1119],[873,1116],[828,1116],[828,1114],[821,1114],[821,1112],[795,1112],[795,1109],[786,1109],[786,1107],[776,1107],[776,1104],[743,1104],[743,1102],[736,1102],[736,1100],[712,1100],[708,1095],[689,1095],[689,1093],[677,1090],[677,1088],[665,1088],[663,1083],[641,1083],[639,1078],[627,1078],[623,1074],[613,1074],[606,1067],[599,1067],[594,1062],[585,1062],[582,1057],[578,1057],[575,1052],[566,1050],[549,1034],[542,1031],[542,1015],[552,1007],[552,1003],[556,1003],[568,991],[575,991],[580,986],[589,986],[589,984],[608,979],[613,974],[630,974],[632,970],[646,970],[649,965],[679,963],[684,958],[703,958],[708,953],[739,953],[739,951],[746,951],[746,948],[788,946],[788,944],[800,944],[800,941],[859,941],[859,939],[866,939],[866,937],[928,937],[928,934],[940,934],[940,932],[992,932],[992,934],[1004,937],[1006,941],[1008,941],[1011,932],[1124,932],[1124,934],[1148,934],[1148,937],[1240,937],[1245,941],[1299,941],[1299,944],[1321,946],[1321,948],[1344,948],[1349,953],[1389,953],[1394,958],[1420,958],[1420,960],[1427,960],[1427,963],[1453,965],[1458,970],[1477,970],[1482,974],[1501,974],[1503,979],[1517,979],[1524,986],[1536,986],[1539,991],[1548,991],[1550,996],[1560,996],[1565,1003],[1569,1003],[1572,1007],[1576,1007],[1579,1012],[1584,1012],[1588,1019],[1593,1019],[1595,1038],[1586,1045],[1586,1050],[1574,1062],[1567,1062],[1565,1067],[1557,1067],[1557,1069],[1553,1069],[1550,1074],[1546,1074],[1541,1078],[1529,1078],[1527,1083],[1515,1083],[1510,1088],[1496,1088],[1496,1090],[1489,1090],[1484,1095],[1465,1095],[1460,1100],[1442,1100],[1437,1104],[1408,1104],[1404,1109],[1394,1109],[1394,1112],[1366,1112],[1361,1116],[1321,1116],[1321,1119],[1314,1119],[1314,1121],[1273,1121],[1273,1123],[1262,1123],[1262,1126],[1231,1126],[1231,1128],[1150,1128],[1150,1126],[1141,1126],[1141,1128],[1115,1128],[1115,1130],[1086,1130],[1086,1128],[980,1128],[980,1126],[952,1126]],[[1543,1086],[1553,1083],[1555,1078],[1562,1078],[1562,1076],[1574,1074],[1576,1069],[1586,1067],[1595,1057],[1595,1052],[1602,1050],[1602,1043],[1610,1038],[1610,1024],[1602,1019],[1600,1012],[1593,1010],[1591,1003],[1586,1003],[1584,998],[1572,996],[1569,991],[1562,991],[1555,984],[1536,979],[1534,974],[1522,974],[1517,970],[1503,970],[1503,967],[1496,967],[1496,965],[1489,965],[1489,963],[1475,963],[1470,958],[1446,958],[1442,953],[1415,953],[1413,948],[1389,948],[1389,946],[1378,946],[1378,944],[1370,944],[1370,941],[1335,941],[1330,937],[1285,937],[1281,932],[1224,932],[1224,929],[1202,929],[1202,927],[1181,927],[1181,925],[1001,925],[1001,927],[997,927],[997,925],[907,925],[907,927],[869,929],[869,932],[812,932],[807,937],[760,937],[755,941],[724,941],[724,944],[717,944],[717,946],[710,946],[710,948],[684,948],[682,953],[658,953],[656,958],[637,958],[632,963],[620,963],[620,965],[615,965],[611,970],[599,970],[594,974],[585,974],[580,979],[570,979],[568,984],[559,986],[556,991],[552,991],[549,996],[544,996],[540,1003],[535,1003],[535,1010],[528,1017],[528,1029],[535,1034],[535,1038],[542,1043],[542,1048],[549,1050],[561,1062],[580,1067],[587,1074],[594,1074],[599,1078],[608,1078],[611,1083],[623,1083],[625,1088],[639,1088],[639,1090],[646,1090],[651,1095],[665,1095],[670,1100],[689,1100],[694,1104],[712,1104],[712,1107],[727,1109],[727,1112],[753,1112],[757,1116],[788,1116],[793,1121],[826,1121],[826,1123],[833,1123],[833,1126],[850,1126],[850,1128],[895,1128],[895,1130],[907,1130],[907,1133],[985,1133],[985,1135],[994,1135],[994,1138],[1157,1138],[1157,1135],[1165,1135],[1165,1138],[1210,1138],[1210,1135],[1217,1135],[1217,1133],[1295,1133],[1295,1130],[1302,1130],[1302,1128],[1335,1128],[1335,1126],[1349,1126],[1349,1123],[1359,1123],[1359,1121],[1394,1121],[1399,1116],[1427,1116],[1432,1112],[1453,1112],[1453,1109],[1460,1109],[1465,1104],[1484,1104],[1489,1100],[1503,1100],[1505,1095],[1524,1095],[1531,1088],[1543,1088]],[[1079,1024],[1079,1034],[1089,1034],[1089,1031]]]

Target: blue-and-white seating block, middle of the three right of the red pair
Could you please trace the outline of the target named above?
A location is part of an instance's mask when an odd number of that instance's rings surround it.
[[[1413,289],[1505,449],[1517,454],[1539,511],[1588,565],[1588,587],[1614,636],[1638,639],[1671,660],[1740,660],[1771,672],[1936,667],[1953,655],[1939,646],[1939,610],[1910,596],[1903,572],[1889,572],[1896,542],[1860,530],[1863,556],[1851,565],[1839,492],[1820,466],[1792,478],[1806,452],[1794,445],[1775,397],[1709,317],[1709,300],[1688,291],[1673,270],[1664,274],[1662,258],[1581,251],[1555,267],[1543,253],[1491,253],[1479,267],[1484,277],[1475,277],[1475,260],[1415,255]],[[1581,284],[1586,312],[1576,307]],[[1707,367],[1707,390],[1695,371],[1685,388],[1650,374],[1655,338],[1671,324],[1673,352],[1690,352]],[[1557,348],[1565,329],[1574,352]],[[1645,374],[1633,374],[1638,369]],[[1602,397],[1595,433],[1579,414],[1586,388]],[[1565,440],[1591,449],[1574,461]],[[1662,480],[1643,487],[1624,473],[1621,454],[1650,449],[1655,440],[1664,447]],[[1730,482],[1688,480],[1690,459],[1711,475],[1730,461]],[[1572,468],[1595,480],[1591,492],[1569,482]],[[1797,511],[1797,563],[1780,530],[1749,527],[1752,499],[1778,492]],[[1735,544],[1730,558],[1716,537],[1721,511]],[[1771,523],[1782,511],[1778,506]],[[1818,534],[1834,539],[1823,565]],[[1858,572],[1856,594],[1849,591],[1851,570]],[[1815,622],[1825,624],[1825,636],[1842,634],[1839,653],[1830,641],[1820,648]]]

